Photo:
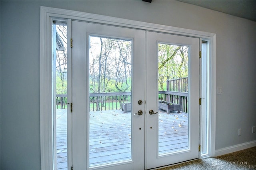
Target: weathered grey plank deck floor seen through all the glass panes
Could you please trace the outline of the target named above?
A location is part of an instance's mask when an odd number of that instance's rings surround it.
[[[66,109],[57,109],[57,169],[67,169]],[[159,111],[159,154],[188,148],[188,113]],[[90,166],[131,158],[131,115],[121,110],[90,112]]]

